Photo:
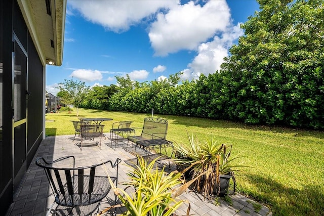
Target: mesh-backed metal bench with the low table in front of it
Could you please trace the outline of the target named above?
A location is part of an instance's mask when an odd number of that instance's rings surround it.
[[[173,142],[166,140],[168,132],[168,121],[161,118],[144,118],[144,124],[142,133],[140,136],[129,136],[127,147],[129,141],[135,143],[135,152],[137,154],[137,147],[142,148],[145,151],[145,159],[148,159],[150,149],[159,148],[159,155],[161,156],[161,149],[162,147],[165,148],[170,146],[173,148]],[[126,147],[126,151],[127,151]],[[171,151],[173,152],[173,150]],[[166,155],[167,156],[167,155]],[[172,153],[171,153],[172,157]],[[160,162],[160,159],[159,159]],[[170,166],[170,163],[169,163]]]

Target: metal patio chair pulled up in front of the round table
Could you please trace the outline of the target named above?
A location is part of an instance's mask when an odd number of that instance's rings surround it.
[[[95,141],[95,138],[100,138],[100,142],[96,141],[96,145],[101,149],[101,138],[103,137],[103,127],[104,124],[89,124],[89,123],[81,123],[80,124],[80,135],[81,142],[80,150],[82,151],[82,146],[85,140],[89,139]]]

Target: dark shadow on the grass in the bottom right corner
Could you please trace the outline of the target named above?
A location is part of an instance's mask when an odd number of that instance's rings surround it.
[[[271,178],[246,175],[253,188],[262,194],[251,194],[256,201],[271,205],[274,215],[322,215],[324,191],[320,185],[304,185],[301,190],[282,185]]]

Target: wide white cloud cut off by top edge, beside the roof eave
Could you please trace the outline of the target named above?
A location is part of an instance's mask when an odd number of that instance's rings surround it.
[[[177,1],[68,1],[85,19],[114,32],[123,32],[143,18],[161,9],[179,4]]]

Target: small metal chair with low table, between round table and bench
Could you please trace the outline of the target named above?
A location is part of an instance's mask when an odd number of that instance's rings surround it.
[[[135,136],[135,129],[130,128],[132,122],[133,121],[117,121],[112,123],[112,128],[110,129],[110,147],[112,147],[112,141],[114,141],[114,150],[116,150],[117,142],[124,141],[131,136],[132,133],[134,133]]]

